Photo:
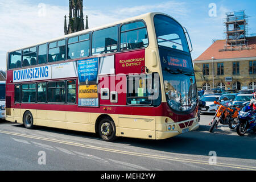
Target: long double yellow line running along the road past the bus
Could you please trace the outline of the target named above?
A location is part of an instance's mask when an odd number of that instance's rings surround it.
[[[96,147],[96,146],[84,145],[84,144],[81,144],[81,143],[67,142],[67,141],[63,141],[63,140],[43,138],[43,137],[35,137],[35,136],[32,136],[32,135],[18,134],[18,133],[12,133],[12,132],[9,132],[9,131],[2,131],[2,130],[0,130],[0,133],[9,134],[9,135],[16,135],[16,136],[32,138],[32,139],[46,140],[48,142],[68,144],[68,145],[71,145],[71,146],[90,148],[90,149],[94,149],[94,150],[114,152],[114,153],[118,153],[118,154],[141,156],[141,157],[144,157],[144,158],[163,159],[163,160],[170,160],[170,161],[176,161],[176,162],[204,164],[204,165],[208,165],[208,166],[220,166],[220,167],[228,167],[228,168],[246,169],[246,170],[256,171],[256,167],[253,167],[253,166],[240,166],[240,165],[237,165],[237,164],[225,164],[225,163],[217,163],[217,164],[213,165],[213,164],[209,164],[208,161],[203,161],[203,160],[181,159],[181,158],[171,158],[171,157],[168,157],[168,156],[160,156],[160,155],[152,155],[152,154],[141,154],[141,153],[138,153],[138,152],[130,152],[130,151],[115,150],[115,149],[111,149],[111,148]]]

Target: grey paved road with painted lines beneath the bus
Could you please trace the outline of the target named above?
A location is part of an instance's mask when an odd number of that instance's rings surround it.
[[[238,137],[227,126],[209,133],[212,117],[201,115],[199,129],[174,138],[119,138],[112,143],[90,133],[47,127],[27,130],[0,121],[0,170],[256,171],[256,134]]]

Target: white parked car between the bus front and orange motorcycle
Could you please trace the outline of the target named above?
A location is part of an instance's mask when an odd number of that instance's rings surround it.
[[[214,101],[218,102],[220,97],[221,95],[209,95],[200,98],[201,101],[206,102],[206,106],[202,108],[201,113],[215,113],[218,106],[214,104]]]

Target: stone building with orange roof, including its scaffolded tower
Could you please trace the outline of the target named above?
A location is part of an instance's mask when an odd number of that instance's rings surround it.
[[[256,90],[256,36],[248,34],[248,19],[245,10],[226,13],[225,39],[193,60],[197,87]]]

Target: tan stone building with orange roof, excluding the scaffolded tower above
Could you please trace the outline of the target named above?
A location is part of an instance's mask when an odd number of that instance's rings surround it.
[[[246,38],[246,48],[223,49],[226,39],[215,41],[193,60],[197,87],[256,89],[256,36]]]

